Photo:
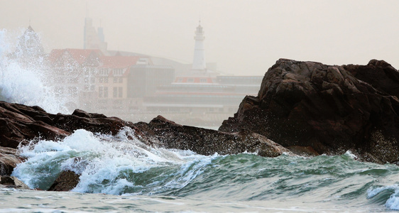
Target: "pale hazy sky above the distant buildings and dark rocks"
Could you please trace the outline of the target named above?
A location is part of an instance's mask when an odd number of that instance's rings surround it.
[[[30,21],[47,51],[82,48],[85,17],[109,50],[187,63],[201,20],[207,62],[234,75],[264,75],[279,58],[399,68],[399,1],[0,0],[0,29]]]

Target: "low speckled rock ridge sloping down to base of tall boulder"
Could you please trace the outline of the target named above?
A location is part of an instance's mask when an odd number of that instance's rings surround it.
[[[153,141],[158,146],[190,150],[201,155],[226,155],[247,151],[261,156],[276,157],[282,153],[290,153],[288,149],[265,136],[251,131],[223,133],[212,129],[182,126],[163,116],[156,117],[149,124],[141,122],[136,126],[141,130],[141,138]]]

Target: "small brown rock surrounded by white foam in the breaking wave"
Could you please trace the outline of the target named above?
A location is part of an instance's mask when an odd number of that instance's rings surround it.
[[[58,175],[48,191],[70,191],[79,183],[80,175],[70,170],[65,170]]]

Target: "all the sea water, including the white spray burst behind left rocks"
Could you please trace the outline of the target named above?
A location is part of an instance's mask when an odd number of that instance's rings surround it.
[[[10,35],[0,31],[0,98],[67,113],[43,68],[6,56]],[[18,153],[26,160],[12,175],[41,190],[1,187],[0,212],[399,212],[399,167],[359,162],[349,151],[207,156],[147,146],[124,128],[115,136],[78,129]],[[45,191],[62,170],[81,174],[78,185]]]

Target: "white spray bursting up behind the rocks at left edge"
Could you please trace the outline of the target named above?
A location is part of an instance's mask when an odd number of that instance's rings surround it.
[[[39,106],[50,113],[70,113],[66,99],[57,97],[46,73],[43,55],[12,50],[11,33],[0,30],[0,100]],[[22,36],[22,35],[21,35]],[[25,35],[26,36],[26,35]],[[27,55],[28,54],[28,55]],[[22,61],[21,59],[25,59]]]

